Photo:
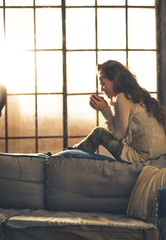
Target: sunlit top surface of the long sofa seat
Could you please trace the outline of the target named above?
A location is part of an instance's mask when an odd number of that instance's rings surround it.
[[[13,212],[13,211],[12,211]],[[56,227],[56,226],[105,226],[121,229],[158,229],[152,223],[126,215],[97,212],[56,212],[46,210],[21,210],[8,218],[11,228]]]

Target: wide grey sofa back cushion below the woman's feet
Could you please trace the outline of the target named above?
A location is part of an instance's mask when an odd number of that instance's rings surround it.
[[[118,174],[124,171],[125,166],[128,164],[81,150],[67,150],[53,155],[46,164],[46,208],[126,212],[130,184],[126,184],[127,194],[124,194]]]

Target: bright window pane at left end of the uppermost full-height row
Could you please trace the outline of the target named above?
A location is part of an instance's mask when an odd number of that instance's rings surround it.
[[[6,43],[14,49],[34,48],[32,9],[6,9]]]

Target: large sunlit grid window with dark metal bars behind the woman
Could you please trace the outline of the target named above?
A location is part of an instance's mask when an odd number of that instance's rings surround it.
[[[156,51],[155,0],[0,0],[0,151],[56,153],[104,125],[89,96],[106,60],[157,98]]]

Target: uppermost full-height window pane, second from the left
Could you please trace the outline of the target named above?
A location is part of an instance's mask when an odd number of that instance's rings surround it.
[[[37,48],[62,48],[61,9],[36,9]]]

